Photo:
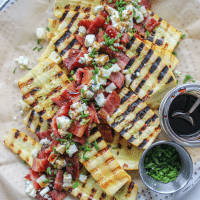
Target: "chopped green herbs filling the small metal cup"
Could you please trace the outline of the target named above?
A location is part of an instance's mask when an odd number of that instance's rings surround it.
[[[163,183],[174,181],[181,170],[181,159],[170,145],[158,145],[150,149],[144,160],[147,174]]]

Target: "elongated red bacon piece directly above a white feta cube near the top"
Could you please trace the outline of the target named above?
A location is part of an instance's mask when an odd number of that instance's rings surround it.
[[[92,25],[87,30],[87,34],[94,34],[96,35],[99,32],[99,29],[103,27],[106,19],[103,15],[97,15],[93,20]]]

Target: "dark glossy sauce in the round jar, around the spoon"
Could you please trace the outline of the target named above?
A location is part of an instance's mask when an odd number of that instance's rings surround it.
[[[169,107],[169,124],[173,131],[180,137],[195,137],[200,132],[200,106],[194,110],[190,115],[195,122],[195,125],[192,126],[190,122],[180,117],[172,117],[172,114],[175,111],[180,111],[186,113],[194,105],[197,98],[193,95],[182,94],[174,98],[170,107]]]

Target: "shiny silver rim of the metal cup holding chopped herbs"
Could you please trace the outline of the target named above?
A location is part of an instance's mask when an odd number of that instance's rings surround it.
[[[168,144],[170,146],[176,146],[178,148],[181,149],[181,151],[183,151],[189,158],[189,162],[190,162],[190,166],[191,169],[190,169],[190,175],[189,175],[189,178],[187,179],[187,181],[181,185],[180,188],[176,189],[176,190],[172,190],[170,192],[164,192],[162,190],[155,190],[153,187],[151,187],[149,184],[146,183],[146,181],[144,181],[144,173],[142,173],[142,168],[144,168],[144,166],[142,166],[142,160],[144,160],[144,158],[146,157],[146,154],[149,152],[150,149],[152,149],[153,147],[155,146],[158,146],[158,145],[161,145],[161,144]],[[174,141],[166,141],[166,140],[161,140],[161,141],[158,141],[158,142],[155,142],[153,143],[150,147],[148,147],[147,149],[145,149],[145,151],[142,153],[142,156],[140,157],[140,161],[139,161],[139,174],[140,174],[140,178],[142,179],[142,182],[146,185],[147,188],[149,188],[150,190],[153,190],[154,192],[157,192],[157,193],[160,193],[160,194],[171,194],[171,193],[174,193],[174,192],[177,192],[179,190],[181,190],[182,188],[184,188],[188,182],[190,181],[191,177],[192,177],[192,174],[193,174],[193,161],[192,161],[192,158],[190,156],[190,154],[188,153],[188,151],[180,144],[174,142]],[[156,181],[156,180],[155,180]],[[160,182],[160,181],[156,181],[156,182]]]

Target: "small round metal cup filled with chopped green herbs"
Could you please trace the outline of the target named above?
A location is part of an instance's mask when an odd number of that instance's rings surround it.
[[[181,145],[159,141],[143,152],[139,173],[149,189],[158,193],[174,193],[186,186],[191,179],[193,162]]]

